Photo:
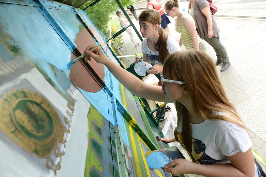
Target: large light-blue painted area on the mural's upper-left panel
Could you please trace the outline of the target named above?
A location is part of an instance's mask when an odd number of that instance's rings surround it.
[[[2,3],[0,11],[5,12],[1,14],[0,26],[3,33],[2,39],[4,40],[4,36],[5,38],[9,36],[6,40],[7,47],[15,46],[18,49],[16,55],[32,61],[40,70],[47,73],[61,92],[65,93],[49,64],[64,70],[69,76],[66,64],[70,61],[71,50],[61,37],[51,28],[37,8],[23,6],[22,10],[19,5],[10,6]],[[58,52],[58,49],[63,52]]]

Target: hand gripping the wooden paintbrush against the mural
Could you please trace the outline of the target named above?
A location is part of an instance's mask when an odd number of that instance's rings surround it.
[[[84,57],[85,62],[89,62],[91,61],[91,57],[97,62],[97,63],[104,63],[104,61],[106,60],[106,55],[103,53],[101,47],[96,48],[93,51],[90,51],[90,49],[92,49],[93,47],[95,47],[95,45],[89,45],[83,54],[87,54]]]

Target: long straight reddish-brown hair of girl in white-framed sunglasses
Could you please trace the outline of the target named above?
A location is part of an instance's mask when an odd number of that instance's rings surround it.
[[[234,105],[225,94],[213,59],[204,51],[186,50],[170,54],[165,60],[163,74],[169,79],[185,82],[194,114],[203,119],[229,121],[245,128]],[[190,113],[180,102],[176,102],[176,110],[177,129],[182,129],[177,136],[178,141],[195,162],[191,154]],[[219,112],[225,115],[217,114]]]

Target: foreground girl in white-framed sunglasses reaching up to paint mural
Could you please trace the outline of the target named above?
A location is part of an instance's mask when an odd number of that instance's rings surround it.
[[[215,63],[208,54],[200,50],[170,54],[165,60],[159,86],[153,86],[111,61],[101,48],[90,52],[93,47],[88,46],[85,50],[85,61],[94,58],[106,65],[134,95],[175,103],[178,115],[175,139],[188,152],[192,162],[176,159],[163,170],[173,175],[208,177],[258,175],[248,131],[229,102]]]

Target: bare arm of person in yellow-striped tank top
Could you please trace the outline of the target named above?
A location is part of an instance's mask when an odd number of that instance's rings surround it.
[[[193,17],[190,15],[185,15],[183,16],[183,22],[192,37],[194,49],[199,50],[198,34]]]

